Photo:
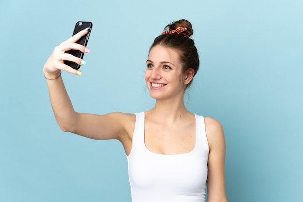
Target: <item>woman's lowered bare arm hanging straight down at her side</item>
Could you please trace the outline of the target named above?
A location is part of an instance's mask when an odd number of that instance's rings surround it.
[[[221,124],[205,117],[205,130],[210,146],[208,158],[207,198],[208,202],[227,202],[225,189],[225,138]]]

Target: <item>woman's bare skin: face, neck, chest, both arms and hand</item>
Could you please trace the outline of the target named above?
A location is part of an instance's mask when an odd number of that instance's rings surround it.
[[[76,49],[89,52],[86,47],[76,43],[86,33],[87,31],[80,31],[55,47],[43,68],[46,78],[56,78],[60,70],[81,74],[63,61],[70,60],[81,65],[80,58],[66,54],[65,51]],[[185,74],[182,72],[177,51],[160,45],[150,51],[145,80],[152,98],[156,99],[154,108],[145,112],[145,144],[150,151],[159,154],[182,154],[194,149],[195,115],[187,111],[183,102],[185,87],[193,76],[193,69]],[[123,145],[126,155],[130,154],[135,115],[120,112],[106,115],[78,113],[73,108],[62,77],[46,82],[54,115],[61,130],[97,140],[117,139]],[[208,202],[227,202],[223,128],[211,117],[205,117],[205,128],[210,147]]]

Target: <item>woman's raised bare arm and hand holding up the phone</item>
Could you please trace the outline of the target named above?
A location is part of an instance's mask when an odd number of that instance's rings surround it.
[[[46,82],[54,115],[63,131],[70,131],[92,139],[118,139],[123,144],[125,139],[129,139],[125,137],[129,137],[128,134],[132,133],[132,127],[130,126],[135,123],[135,115],[123,113],[110,113],[107,115],[77,113],[66,92],[62,77],[59,76],[60,71],[81,74],[80,71],[65,65],[63,61],[69,60],[82,65],[81,58],[67,54],[65,51],[75,49],[84,53],[89,52],[89,49],[85,46],[76,43],[86,33],[87,31],[82,30],[57,46],[44,65],[43,72],[45,78],[48,78]]]

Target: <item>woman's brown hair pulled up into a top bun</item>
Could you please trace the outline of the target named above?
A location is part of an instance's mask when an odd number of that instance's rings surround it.
[[[192,24],[184,19],[172,22],[164,28],[164,31],[174,30],[178,27],[186,28],[187,30],[184,32],[188,33],[189,36],[192,36],[194,33]],[[155,38],[150,51],[156,45],[162,45],[177,50],[180,56],[179,59],[182,64],[183,73],[186,73],[188,69],[192,68],[195,71],[194,76],[196,75],[200,62],[194,40],[184,37],[182,34],[162,34]],[[192,81],[193,80],[186,85],[186,88],[191,85]]]

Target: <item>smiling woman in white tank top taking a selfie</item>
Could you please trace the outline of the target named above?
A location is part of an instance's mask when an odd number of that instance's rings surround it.
[[[92,139],[117,139],[128,159],[133,202],[227,202],[224,162],[225,139],[221,124],[195,115],[184,106],[184,92],[196,75],[199,58],[189,37],[192,25],[179,20],[165,27],[151,46],[145,80],[154,108],[138,114],[93,115],[75,112],[65,90],[61,70],[78,74],[63,63],[85,62],[65,51],[89,53],[76,41],[82,30],[57,46],[45,63],[50,100],[63,131]]]

